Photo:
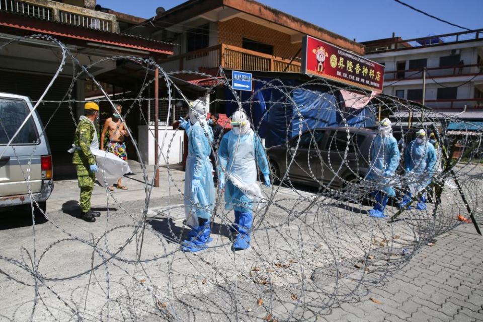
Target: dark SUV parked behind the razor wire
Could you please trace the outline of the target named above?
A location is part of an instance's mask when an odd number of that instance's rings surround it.
[[[278,181],[289,169],[285,181],[341,190],[366,176],[376,134],[373,129],[352,127],[302,132],[267,149],[272,174]]]

